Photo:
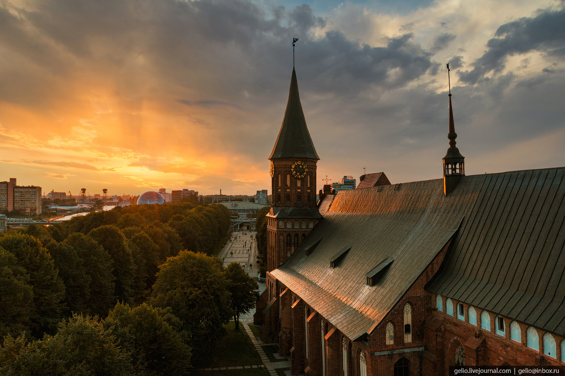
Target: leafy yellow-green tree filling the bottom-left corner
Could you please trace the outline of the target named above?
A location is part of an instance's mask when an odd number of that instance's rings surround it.
[[[134,375],[131,355],[95,318],[73,315],[54,336],[25,344],[8,336],[0,348],[3,375]]]

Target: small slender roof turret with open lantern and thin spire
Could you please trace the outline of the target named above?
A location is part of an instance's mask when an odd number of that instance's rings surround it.
[[[449,80],[449,63],[447,63],[447,80],[449,82],[449,148],[444,157],[444,193],[448,195],[455,189],[462,176],[465,176],[465,157],[455,146],[457,133],[453,121],[453,107],[451,106],[451,82]]]

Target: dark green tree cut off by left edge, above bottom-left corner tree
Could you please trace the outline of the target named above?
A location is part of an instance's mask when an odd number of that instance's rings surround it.
[[[33,287],[25,268],[12,253],[0,247],[0,336],[29,330]]]

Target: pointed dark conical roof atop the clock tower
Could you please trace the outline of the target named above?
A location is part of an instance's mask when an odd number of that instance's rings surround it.
[[[319,160],[314,143],[306,127],[306,119],[298,95],[296,72],[292,68],[288,103],[282,120],[279,137],[269,159],[274,158],[312,158]]]

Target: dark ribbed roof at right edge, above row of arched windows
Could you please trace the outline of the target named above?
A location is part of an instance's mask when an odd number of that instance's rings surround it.
[[[485,175],[427,289],[565,335],[564,197],[565,168]]]

